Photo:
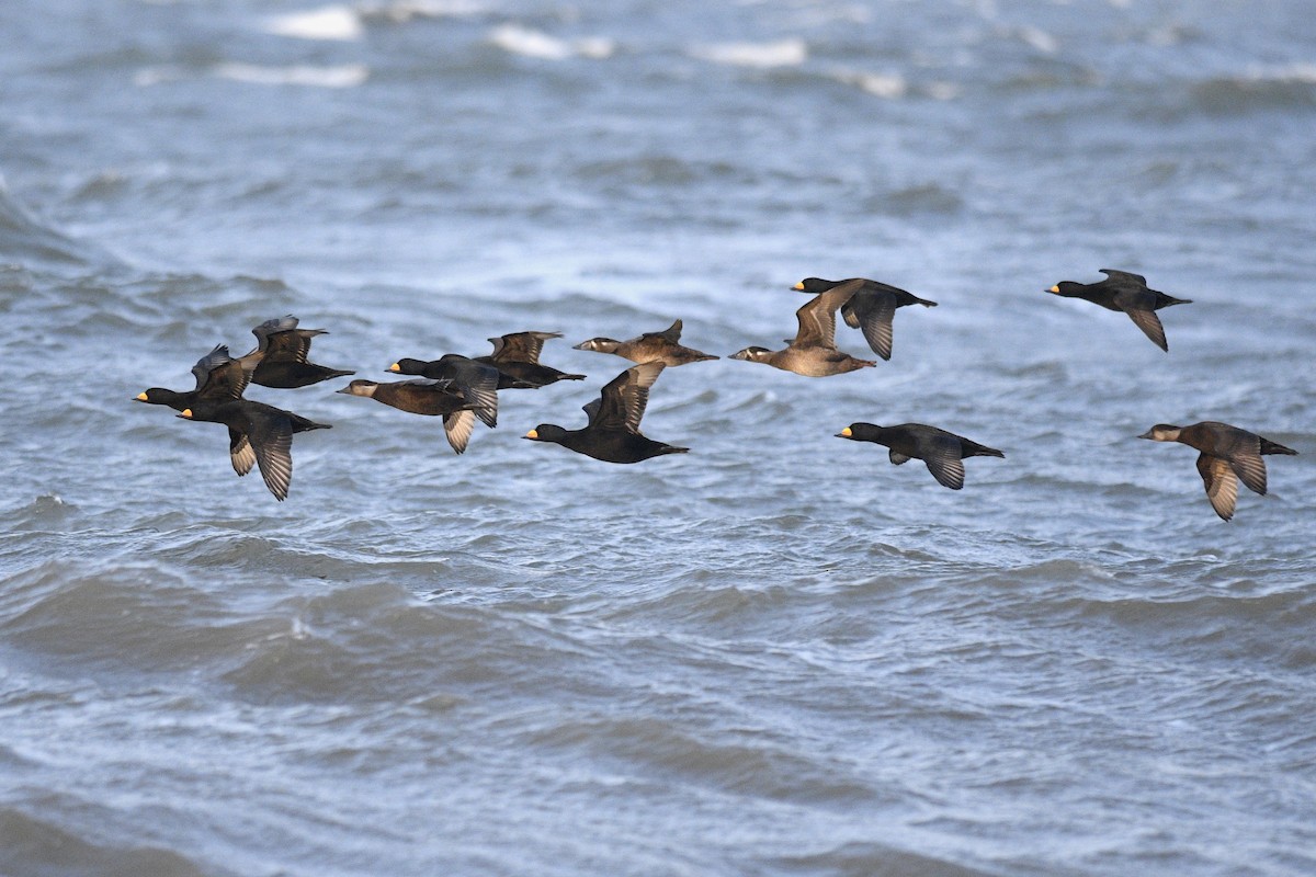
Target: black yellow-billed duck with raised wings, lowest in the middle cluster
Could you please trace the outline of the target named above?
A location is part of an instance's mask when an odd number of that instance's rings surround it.
[[[640,433],[649,388],[663,368],[659,362],[641,363],[608,381],[599,398],[583,406],[590,417],[583,429],[540,423],[525,438],[561,444],[605,463],[640,463],[665,454],[686,454],[690,448],[663,444]]]

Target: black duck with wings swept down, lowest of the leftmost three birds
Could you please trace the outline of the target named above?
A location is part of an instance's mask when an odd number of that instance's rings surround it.
[[[316,423],[292,412],[250,400],[201,400],[183,409],[179,417],[190,421],[224,423],[229,427],[229,462],[240,476],[259,464],[265,485],[280,502],[292,483],[292,435],[308,430],[326,430],[329,423]]]

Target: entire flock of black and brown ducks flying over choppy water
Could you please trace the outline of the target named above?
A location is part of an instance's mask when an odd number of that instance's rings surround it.
[[[1191,301],[1150,289],[1146,279],[1136,273],[1107,268],[1101,273],[1105,280],[1090,284],[1065,280],[1049,292],[1124,312],[1148,338],[1169,352],[1165,329],[1155,312]],[[869,368],[876,363],[837,348],[838,310],[848,326],[863,333],[874,354],[891,359],[896,309],[916,304],[933,308],[937,304],[863,277],[808,277],[794,288],[813,296],[795,312],[799,323],[795,338],[787,339],[786,347],[780,350],[746,347],[733,354],[732,359],[766,363],[807,377],[826,377]],[[329,425],[243,398],[243,391],[249,384],[293,389],[355,372],[308,362],[311,341],[325,331],[300,329],[295,317],[266,321],[251,333],[257,338],[257,347],[245,356],[233,358],[229,348],[220,344],[199,359],[192,367],[195,389],[176,392],[153,387],[136,398],[153,405],[167,405],[184,419],[225,425],[229,430],[233,469],[242,476],[253,465],[259,467],[266,486],[282,501],[287,498],[292,480],[293,434],[329,429]],[[608,463],[638,463],[666,454],[687,452],[690,448],[655,442],[640,431],[649,389],[665,368],[717,359],[712,354],[684,347],[680,333],[682,321],[676,320],[662,331],[645,333],[629,341],[591,338],[576,344],[576,350],[615,354],[637,364],[608,381],[599,398],[584,405],[588,415],[584,427],[567,430],[541,423],[526,433],[525,438],[561,444]],[[412,376],[411,380],[379,383],[358,379],[337,392],[374,398],[412,414],[442,417],[449,444],[462,454],[476,419],[490,427],[497,423],[497,391],[537,389],[559,380],[584,380],[584,375],[569,375],[540,363],[544,342],[561,337],[561,333],[520,331],[491,338],[494,352],[486,356],[445,354],[434,360],[399,359],[390,371]],[[886,446],[891,463],[896,465],[912,459],[923,460],[932,476],[953,490],[965,484],[965,458],[1005,456],[986,444],[925,423],[878,426],[858,422],[837,435]],[[1298,452],[1216,421],[1184,427],[1158,423],[1138,438],[1179,442],[1196,448],[1200,452],[1198,472],[1207,497],[1216,514],[1225,521],[1233,517],[1240,480],[1250,490],[1266,493],[1266,464],[1262,455]]]

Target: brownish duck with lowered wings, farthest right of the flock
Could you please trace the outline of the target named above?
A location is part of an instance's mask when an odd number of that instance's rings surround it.
[[[1253,493],[1266,494],[1266,462],[1261,459],[1262,455],[1298,454],[1278,442],[1220,421],[1202,421],[1192,426],[1157,423],[1138,438],[1179,442],[1200,451],[1198,475],[1202,476],[1211,508],[1223,521],[1233,518],[1238,481]]]

